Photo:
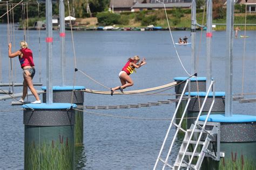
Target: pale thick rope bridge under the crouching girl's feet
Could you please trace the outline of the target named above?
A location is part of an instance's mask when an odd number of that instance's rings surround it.
[[[165,84],[163,86],[158,86],[158,87],[153,87],[153,88],[147,88],[147,89],[141,89],[141,90],[131,90],[131,91],[123,91],[123,93],[119,92],[119,91],[114,91],[114,95],[121,95],[121,94],[137,94],[137,93],[145,93],[145,92],[149,92],[149,91],[154,91],[154,90],[160,90],[160,89],[164,89],[167,87],[171,87],[171,86],[175,86],[177,84],[177,82],[172,82],[169,84]],[[101,95],[110,95],[111,92],[110,91],[100,91],[100,90],[91,90],[91,89],[85,89],[82,90],[86,93],[93,93],[93,94],[101,94]]]

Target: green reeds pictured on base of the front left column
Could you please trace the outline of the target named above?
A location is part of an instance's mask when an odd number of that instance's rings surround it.
[[[25,169],[73,169],[73,144],[68,137],[25,145]]]

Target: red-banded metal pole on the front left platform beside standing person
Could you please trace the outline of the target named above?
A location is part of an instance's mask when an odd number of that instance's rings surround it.
[[[46,103],[52,104],[52,2],[46,0]]]

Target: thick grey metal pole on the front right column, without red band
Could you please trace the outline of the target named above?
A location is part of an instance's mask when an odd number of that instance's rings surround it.
[[[234,1],[227,1],[225,116],[232,116]]]

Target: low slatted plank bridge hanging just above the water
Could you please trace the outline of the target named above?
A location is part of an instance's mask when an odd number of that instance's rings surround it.
[[[171,118],[143,118],[143,117],[126,117],[126,116],[116,116],[116,115],[108,115],[108,114],[99,114],[96,112],[92,112],[92,111],[85,111],[85,110],[80,110],[80,109],[76,109],[76,108],[72,108],[74,110],[77,111],[83,111],[86,112],[87,114],[93,114],[93,115],[97,115],[97,116],[106,116],[106,117],[115,117],[115,118],[124,118],[124,119],[140,119],[140,120],[154,120],[154,121],[160,121],[160,120],[171,120]],[[184,119],[192,119],[192,118],[197,118],[197,117],[188,117],[188,118],[184,118]],[[175,119],[180,119],[180,118],[175,118]]]

